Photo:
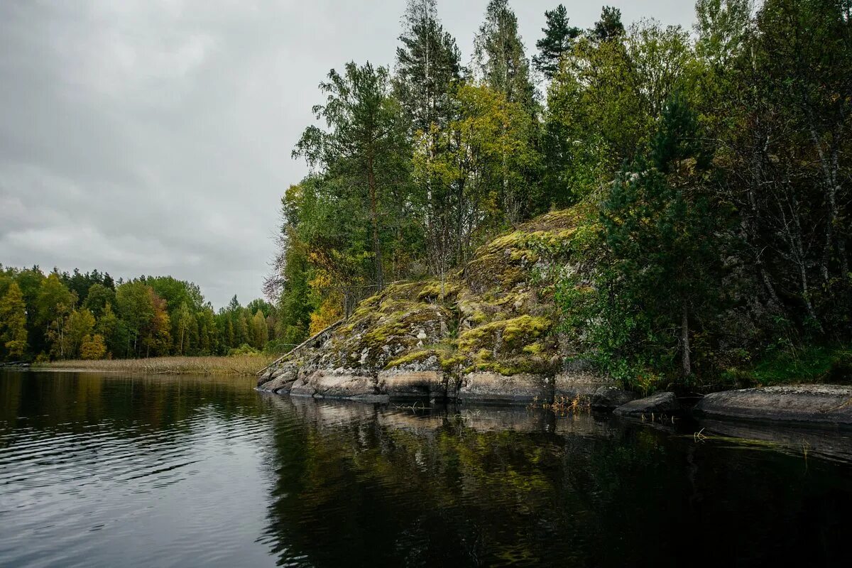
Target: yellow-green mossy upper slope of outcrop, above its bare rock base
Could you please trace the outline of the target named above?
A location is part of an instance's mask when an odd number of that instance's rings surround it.
[[[551,372],[556,309],[548,267],[572,261],[588,211],[553,211],[476,251],[458,274],[390,284],[339,328],[322,364],[391,369],[435,357],[453,374]],[[425,337],[423,337],[425,334]],[[328,357],[331,355],[331,357]],[[313,357],[312,356],[312,357]]]

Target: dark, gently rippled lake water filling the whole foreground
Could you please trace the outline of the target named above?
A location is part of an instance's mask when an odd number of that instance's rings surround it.
[[[849,565],[842,461],[251,386],[0,373],[0,565]]]

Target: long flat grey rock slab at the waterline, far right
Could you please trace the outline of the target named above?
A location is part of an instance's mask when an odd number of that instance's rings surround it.
[[[695,405],[699,416],[852,426],[852,387],[795,385],[711,393]]]

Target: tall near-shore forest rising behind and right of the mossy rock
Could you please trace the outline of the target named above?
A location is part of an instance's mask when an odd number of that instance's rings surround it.
[[[699,0],[691,30],[547,11],[530,54],[491,0],[463,60],[410,0],[390,66],[320,84],[267,292],[284,341],[488,238],[585,211],[561,333],[613,376],[717,373],[849,340],[849,0]]]

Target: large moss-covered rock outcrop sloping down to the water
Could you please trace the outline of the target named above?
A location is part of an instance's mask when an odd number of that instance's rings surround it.
[[[258,388],[498,404],[590,397],[610,382],[582,364],[565,366],[570,346],[555,325],[553,276],[571,267],[580,217],[575,209],[538,217],[443,281],[389,285],[267,370]]]

